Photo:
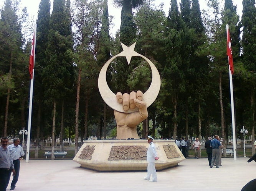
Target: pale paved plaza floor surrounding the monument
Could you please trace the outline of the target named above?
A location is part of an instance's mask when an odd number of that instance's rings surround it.
[[[186,159],[157,172],[157,182],[144,180],[146,171],[95,172],[73,160],[22,160],[15,191],[240,191],[256,178],[256,163],[248,159],[223,158],[220,168],[210,168],[207,159]]]

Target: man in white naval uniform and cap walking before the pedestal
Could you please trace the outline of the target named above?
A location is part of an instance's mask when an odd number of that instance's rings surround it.
[[[157,172],[155,170],[155,160],[158,160],[157,152],[155,151],[155,145],[153,143],[153,138],[151,136],[147,137],[147,142],[149,143],[149,148],[147,149],[147,176],[144,180],[149,180],[156,182],[157,181]],[[152,175],[152,180],[150,180],[150,176]]]

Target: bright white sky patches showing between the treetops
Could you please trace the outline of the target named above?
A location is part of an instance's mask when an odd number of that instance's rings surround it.
[[[204,9],[206,8],[206,0],[199,0],[199,5],[200,5],[200,9]],[[29,17],[31,19],[35,19],[37,18],[37,13],[38,13],[38,6],[40,4],[41,0],[21,0],[21,6],[22,7],[27,7],[28,10],[28,14]],[[51,2],[53,2],[53,0],[51,0]],[[72,2],[72,0],[71,0]],[[164,11],[165,11],[165,15],[168,15],[168,11],[170,8],[170,0],[154,0],[154,4],[156,6],[159,6],[160,3],[164,2]],[[224,2],[221,0],[221,2]],[[2,8],[4,3],[4,0],[0,0],[0,8]],[[180,0],[178,0],[178,5],[180,3]],[[243,9],[243,5],[242,5],[242,0],[233,0],[233,4],[237,5],[237,12],[240,15],[240,19],[241,19],[241,14],[242,14],[242,9]],[[120,24],[121,24],[121,9],[120,8],[116,8],[113,5],[113,0],[108,0],[108,8],[109,8],[109,15],[114,16],[114,27],[110,30],[111,36],[114,36],[114,34],[116,33],[116,31],[120,28]]]

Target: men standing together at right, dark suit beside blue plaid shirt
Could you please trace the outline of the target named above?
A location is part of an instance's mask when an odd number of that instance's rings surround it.
[[[210,168],[213,166],[219,168],[221,166],[221,155],[223,149],[219,136],[215,135],[213,140],[211,140],[211,137],[208,137],[208,141],[205,142],[205,148]]]

